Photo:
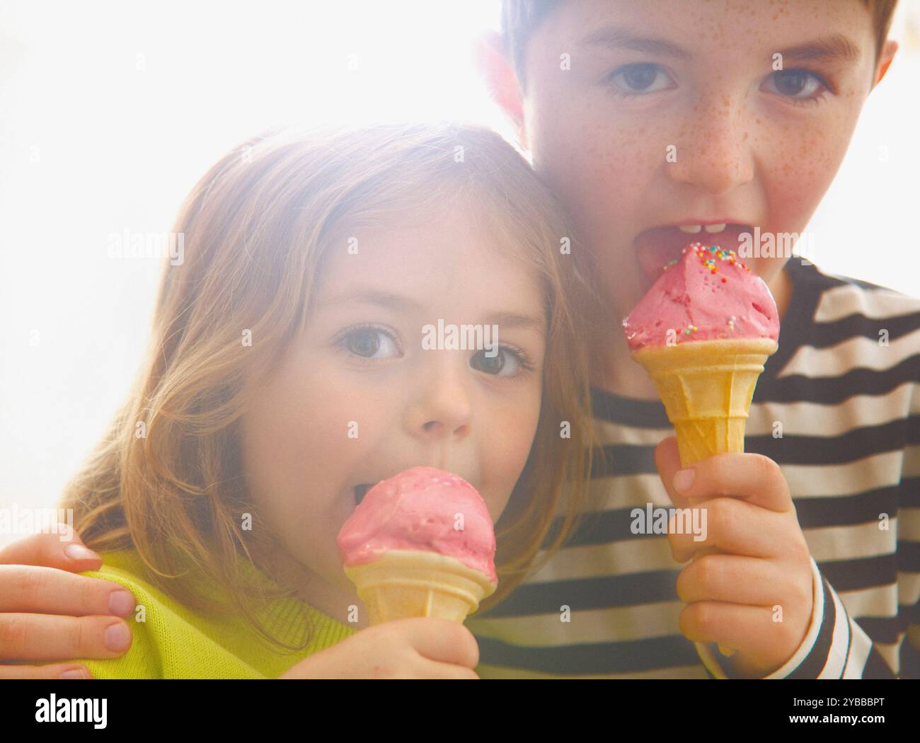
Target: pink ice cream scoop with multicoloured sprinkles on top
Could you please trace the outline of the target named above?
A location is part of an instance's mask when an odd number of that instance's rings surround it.
[[[673,343],[732,338],[779,339],[776,301],[765,281],[734,250],[693,243],[623,321],[631,351]]]

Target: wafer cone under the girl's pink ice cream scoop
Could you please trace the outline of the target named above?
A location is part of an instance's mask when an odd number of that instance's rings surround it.
[[[412,617],[463,622],[494,593],[489,576],[454,557],[394,550],[370,563],[345,566],[371,624]]]

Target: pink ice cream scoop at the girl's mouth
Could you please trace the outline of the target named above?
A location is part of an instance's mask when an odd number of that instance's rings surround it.
[[[395,550],[431,552],[498,582],[495,530],[485,501],[462,477],[434,467],[412,467],[377,483],[342,525],[337,541],[345,567]]]

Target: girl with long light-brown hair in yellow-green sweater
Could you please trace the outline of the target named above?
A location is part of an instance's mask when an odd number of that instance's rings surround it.
[[[137,386],[61,504],[104,553],[87,575],[137,601],[127,654],[79,662],[475,677],[462,625],[366,627],[335,540],[367,485],[460,474],[497,522],[488,609],[574,528],[591,467],[577,318],[597,310],[556,202],[485,129],[275,130],[213,166],[174,232]],[[498,352],[422,349],[439,321],[496,326]]]

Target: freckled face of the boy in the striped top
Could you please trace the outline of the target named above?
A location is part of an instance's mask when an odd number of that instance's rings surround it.
[[[585,0],[559,3],[525,59],[535,167],[626,316],[688,242],[803,231],[870,90],[875,35],[857,0]],[[729,227],[678,228],[706,222]],[[785,262],[744,260],[767,282]]]

